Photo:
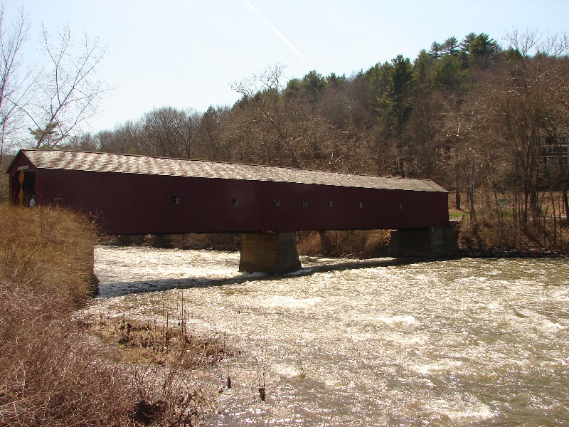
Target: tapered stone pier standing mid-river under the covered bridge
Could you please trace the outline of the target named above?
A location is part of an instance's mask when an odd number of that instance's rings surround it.
[[[243,233],[239,271],[284,274],[300,270],[297,233]]]

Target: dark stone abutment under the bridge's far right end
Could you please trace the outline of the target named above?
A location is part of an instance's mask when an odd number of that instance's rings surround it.
[[[458,256],[457,223],[422,230],[392,230],[393,258],[454,258]]]

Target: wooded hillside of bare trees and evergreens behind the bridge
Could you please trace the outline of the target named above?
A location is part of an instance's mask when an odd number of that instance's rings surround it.
[[[286,81],[277,64],[233,83],[231,107],[161,107],[67,148],[427,178],[471,216],[508,206],[523,228],[558,214],[568,187],[564,158],[541,154],[569,135],[569,40],[514,31],[504,43],[450,37],[349,76]]]

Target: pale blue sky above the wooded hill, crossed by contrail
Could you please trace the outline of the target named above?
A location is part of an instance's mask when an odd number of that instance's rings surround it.
[[[399,53],[413,60],[450,36],[487,33],[503,43],[514,27],[569,31],[569,0],[4,0],[6,18],[21,6],[30,43],[43,22],[107,46],[101,76],[115,89],[93,132],[154,107],[233,105],[230,83],[276,63],[287,79],[311,70],[349,76]]]

